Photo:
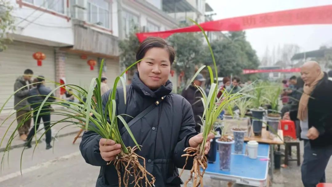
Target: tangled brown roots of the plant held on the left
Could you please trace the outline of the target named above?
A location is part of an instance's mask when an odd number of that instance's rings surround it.
[[[124,168],[124,177],[122,182],[124,186],[127,187],[129,183],[129,177],[132,176],[134,180],[130,184],[135,184],[134,187],[143,187],[143,182],[145,181],[145,187],[152,187],[154,186],[155,178],[154,176],[146,170],[145,167],[145,158],[142,156],[137,155],[134,151],[137,150],[137,147],[127,147],[129,150],[128,154],[123,154],[117,157],[115,160],[112,160],[119,176],[119,187],[121,187],[121,172],[120,167]],[[138,158],[143,160],[144,166],[142,166]],[[110,164],[109,162],[108,164]],[[151,177],[151,182],[148,180],[148,176]]]

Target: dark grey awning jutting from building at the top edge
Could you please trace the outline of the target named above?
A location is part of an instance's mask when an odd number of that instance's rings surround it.
[[[167,13],[196,12],[196,8],[186,0],[163,0],[162,2],[163,11]]]

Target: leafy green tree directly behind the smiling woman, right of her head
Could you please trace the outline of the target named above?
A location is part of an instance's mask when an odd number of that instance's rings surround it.
[[[184,84],[192,78],[195,73],[195,65],[202,62],[206,46],[203,45],[203,35],[200,32],[173,34],[169,39],[169,44],[176,51],[173,67],[179,74],[184,71]]]

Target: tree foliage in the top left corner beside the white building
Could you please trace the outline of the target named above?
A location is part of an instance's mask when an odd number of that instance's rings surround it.
[[[12,10],[13,6],[8,0],[0,0],[0,51],[5,50],[6,43],[11,41],[7,33],[15,30],[15,19],[11,15]]]

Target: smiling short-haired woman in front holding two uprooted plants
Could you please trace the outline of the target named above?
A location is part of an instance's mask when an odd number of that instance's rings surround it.
[[[177,168],[185,164],[186,147],[197,147],[203,141],[202,133],[195,131],[195,120],[190,103],[181,95],[171,93],[172,83],[168,80],[171,65],[175,58],[174,49],[165,40],[149,37],[144,40],[136,59],[143,59],[137,64],[138,72],[126,87],[126,105],[124,105],[122,88],[117,89],[117,114],[135,117],[145,108],[154,104],[161,97],[164,99],[146,115],[140,118],[130,130],[137,143],[142,145],[138,155],[146,160],[146,169],[155,178],[155,186],[180,187]],[[106,104],[111,91],[103,95]],[[105,107],[105,105],[104,105]],[[123,116],[128,123],[132,118]],[[119,121],[119,129],[126,146],[134,146],[130,135]],[[208,139],[212,139],[211,133]],[[207,141],[205,154],[209,150]],[[101,166],[96,187],[118,187],[118,174],[113,164],[106,165],[120,153],[121,145],[113,140],[101,138],[97,133],[88,131],[83,134],[80,151],[85,161],[91,165]],[[191,169],[193,160],[188,160],[186,169]],[[133,185],[129,185],[133,186]]]

